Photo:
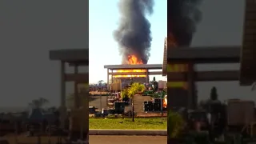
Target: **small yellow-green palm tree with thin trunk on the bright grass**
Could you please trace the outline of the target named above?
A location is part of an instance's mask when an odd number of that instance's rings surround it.
[[[133,122],[134,122],[134,95],[142,92],[143,90],[145,90],[145,86],[143,84],[134,82],[133,84],[131,84],[129,88],[127,88],[127,91],[126,90],[122,91],[123,94],[126,94],[128,98],[131,99]]]

